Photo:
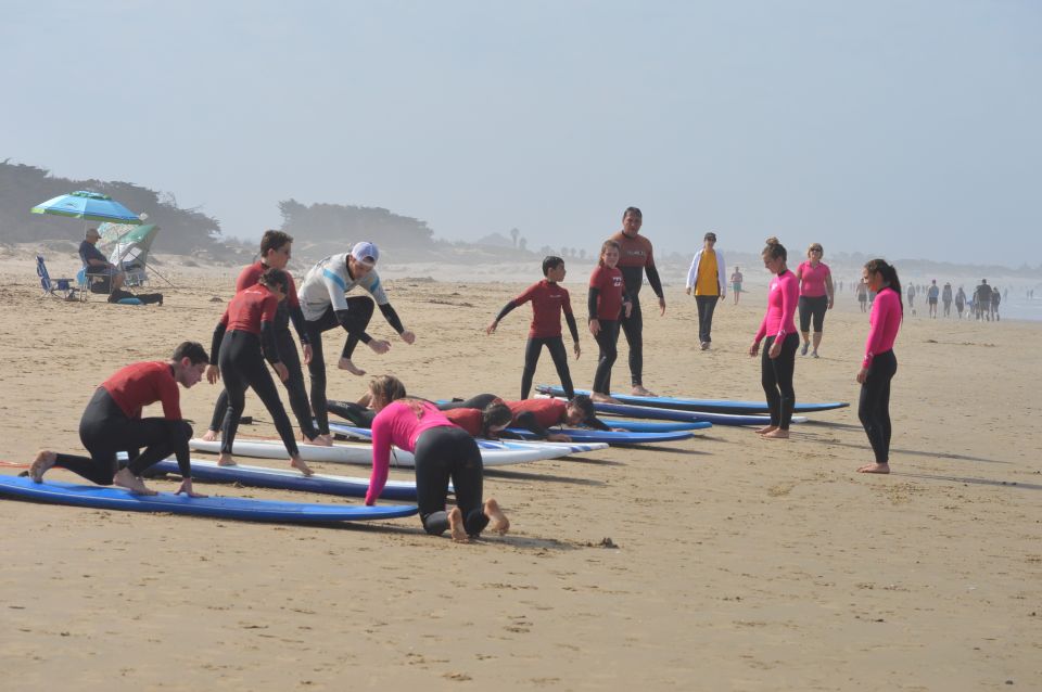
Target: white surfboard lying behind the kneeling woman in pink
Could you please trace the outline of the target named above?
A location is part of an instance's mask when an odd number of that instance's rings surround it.
[[[218,453],[220,452],[220,443],[206,441],[200,438],[193,438],[188,443],[189,447],[196,451]],[[608,445],[592,443],[583,445],[582,451],[593,451],[605,449]],[[319,445],[298,445],[301,458],[304,461],[329,462],[344,464],[372,464],[372,445],[366,444],[338,444],[332,447],[321,447]],[[557,459],[576,453],[572,446],[550,446],[550,445],[525,445],[524,448],[501,446],[496,449],[482,449],[481,460],[485,466],[505,466],[509,464],[520,464],[530,461],[543,461],[545,459]],[[232,453],[240,457],[254,457],[257,459],[289,459],[285,453],[285,447],[279,440],[266,439],[237,439],[232,446]],[[391,465],[401,467],[412,467],[412,453],[395,447],[391,448]]]

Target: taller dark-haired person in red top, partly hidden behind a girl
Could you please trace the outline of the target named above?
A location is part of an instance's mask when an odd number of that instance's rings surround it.
[[[260,274],[270,267],[285,272],[289,289],[285,300],[279,302],[278,311],[275,315],[275,341],[282,363],[289,373],[289,377],[282,384],[285,386],[285,392],[290,397],[290,408],[293,409],[293,414],[296,417],[296,422],[301,426],[304,437],[313,445],[328,446],[332,445],[333,440],[328,435],[319,435],[315,427],[312,407],[307,400],[307,389],[304,387],[304,371],[296,353],[296,344],[293,343],[293,335],[290,334],[290,322],[292,321],[293,328],[301,339],[301,345],[304,347],[304,363],[309,363],[312,360],[312,344],[304,325],[304,312],[301,310],[301,302],[296,295],[293,274],[285,268],[290,262],[290,257],[292,257],[292,251],[293,236],[282,231],[265,231],[260,239],[260,259],[239,272],[239,278],[236,280],[236,293],[256,285]],[[209,430],[203,435],[203,439],[207,441],[217,439],[227,411],[228,393],[221,390],[220,396],[217,397],[217,403],[214,406]]]

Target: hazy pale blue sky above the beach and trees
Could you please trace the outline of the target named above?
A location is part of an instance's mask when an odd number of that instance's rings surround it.
[[[230,235],[295,197],[593,252],[636,205],[660,251],[1042,262],[1034,0],[0,10],[0,159]]]

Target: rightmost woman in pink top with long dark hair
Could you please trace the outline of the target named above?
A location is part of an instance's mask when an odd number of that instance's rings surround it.
[[[868,261],[862,270],[868,289],[876,292],[868,317],[865,358],[857,371],[861,398],[857,418],[868,435],[876,461],[860,466],[860,473],[890,473],[890,381],[898,372],[893,342],[901,329],[904,305],[898,270],[881,259]]]

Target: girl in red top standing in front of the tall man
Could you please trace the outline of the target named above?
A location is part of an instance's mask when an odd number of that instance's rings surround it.
[[[611,396],[611,368],[619,355],[619,320],[633,307],[626,296],[625,281],[619,270],[619,243],[605,241],[600,246],[600,260],[589,277],[586,309],[589,313],[589,333],[597,341],[600,354],[590,398],[594,401],[618,403]],[[574,398],[572,392],[568,398]]]

